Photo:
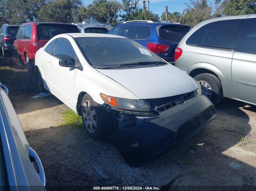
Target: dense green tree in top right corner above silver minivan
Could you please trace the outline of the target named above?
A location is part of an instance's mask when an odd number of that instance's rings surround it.
[[[256,13],[256,0],[224,0],[221,5],[225,16]]]

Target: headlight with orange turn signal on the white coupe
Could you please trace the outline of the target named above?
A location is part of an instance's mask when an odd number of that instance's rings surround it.
[[[100,93],[100,96],[105,103],[109,105],[125,110],[134,110],[134,111],[150,111],[151,107],[146,100],[130,100],[119,97],[112,97]]]

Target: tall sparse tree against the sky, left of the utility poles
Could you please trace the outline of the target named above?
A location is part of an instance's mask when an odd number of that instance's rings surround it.
[[[122,21],[130,21],[131,19],[131,12],[135,11],[139,7],[139,0],[121,0],[122,9],[125,14],[121,14],[120,17]]]

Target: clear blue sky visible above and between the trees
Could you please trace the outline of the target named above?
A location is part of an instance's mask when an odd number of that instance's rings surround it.
[[[92,0],[82,0],[85,5],[88,5],[92,2]],[[161,16],[162,12],[165,12],[165,6],[168,6],[169,12],[178,11],[182,13],[184,8],[186,7],[185,3],[190,3],[189,0],[149,0],[149,10],[154,13],[159,14]],[[142,4],[143,0],[140,1],[140,8],[143,8]],[[146,0],[146,7],[148,10],[148,0]]]

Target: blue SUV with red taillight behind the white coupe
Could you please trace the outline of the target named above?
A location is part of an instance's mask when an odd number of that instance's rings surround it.
[[[115,26],[108,34],[133,39],[174,65],[175,48],[190,29],[191,26],[179,23],[126,21]]]

